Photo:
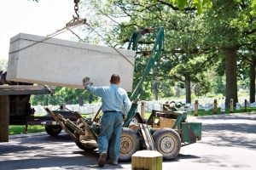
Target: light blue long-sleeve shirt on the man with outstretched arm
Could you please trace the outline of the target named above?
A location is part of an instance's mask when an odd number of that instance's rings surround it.
[[[123,88],[116,84],[109,87],[92,87],[90,84],[85,85],[90,94],[95,94],[102,98],[102,111],[121,111],[127,115],[131,107],[131,101]]]

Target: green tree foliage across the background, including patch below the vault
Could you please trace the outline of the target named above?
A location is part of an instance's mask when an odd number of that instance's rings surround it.
[[[168,97],[179,88],[194,90],[196,95],[223,94],[233,86],[229,82],[225,84],[227,74],[239,81],[252,75],[250,65],[255,62],[256,47],[255,0],[89,0],[80,3],[80,7],[88,24],[104,37],[84,27],[85,42],[126,48],[133,31],[165,27],[164,51],[144,83],[143,99],[152,99],[157,94]],[[148,51],[152,42],[152,37],[143,38],[139,48]],[[234,73],[225,67],[227,51],[232,50],[238,57]],[[134,86],[142,77],[147,59],[137,54]],[[236,94],[237,89],[232,93]],[[61,88],[56,96],[61,102],[73,103],[74,96],[79,94],[83,93]],[[232,96],[226,94],[226,97]]]

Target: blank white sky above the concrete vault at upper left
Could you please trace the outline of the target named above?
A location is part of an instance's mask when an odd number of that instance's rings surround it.
[[[73,0],[0,0],[0,59],[9,57],[9,40],[19,33],[46,36],[73,19]],[[58,38],[71,39],[71,33]]]

